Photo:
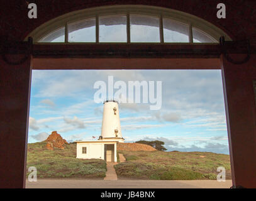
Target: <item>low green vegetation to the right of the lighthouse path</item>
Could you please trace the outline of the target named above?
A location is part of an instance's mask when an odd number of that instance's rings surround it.
[[[115,165],[118,177],[150,180],[216,180],[218,166],[231,179],[228,155],[210,152],[118,151],[125,163]]]

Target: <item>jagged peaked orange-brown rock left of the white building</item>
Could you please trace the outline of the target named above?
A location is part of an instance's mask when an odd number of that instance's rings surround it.
[[[45,141],[47,142],[46,148],[48,150],[53,150],[55,147],[64,149],[64,145],[69,144],[65,139],[62,138],[62,136],[60,136],[60,134],[57,133],[57,131],[52,131],[52,134],[50,134]]]

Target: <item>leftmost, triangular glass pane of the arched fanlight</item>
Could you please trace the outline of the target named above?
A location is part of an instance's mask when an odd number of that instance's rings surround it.
[[[65,42],[65,27],[49,33],[38,41],[38,43],[64,43]]]

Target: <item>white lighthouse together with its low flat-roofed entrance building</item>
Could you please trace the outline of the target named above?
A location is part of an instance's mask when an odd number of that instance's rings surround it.
[[[75,141],[77,143],[77,158],[99,158],[107,162],[116,162],[116,145],[123,143],[120,126],[118,102],[104,102],[101,136],[97,141]]]

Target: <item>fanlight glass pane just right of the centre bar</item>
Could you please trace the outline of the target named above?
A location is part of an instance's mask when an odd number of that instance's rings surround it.
[[[130,16],[131,42],[160,42],[159,18]]]

